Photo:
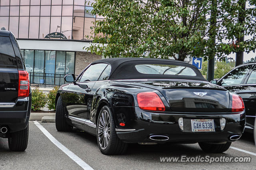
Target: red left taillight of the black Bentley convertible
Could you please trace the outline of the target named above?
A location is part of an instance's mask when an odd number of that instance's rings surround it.
[[[165,111],[164,103],[155,92],[138,93],[137,101],[140,109],[147,111]]]

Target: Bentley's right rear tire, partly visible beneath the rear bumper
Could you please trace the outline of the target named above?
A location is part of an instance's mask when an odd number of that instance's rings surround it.
[[[204,152],[221,153],[228,150],[232,142],[226,142],[225,144],[209,144],[205,142],[198,142],[200,148]]]

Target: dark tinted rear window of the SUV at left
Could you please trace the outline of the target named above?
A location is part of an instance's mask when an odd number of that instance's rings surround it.
[[[16,65],[16,58],[9,37],[0,36],[0,65]]]

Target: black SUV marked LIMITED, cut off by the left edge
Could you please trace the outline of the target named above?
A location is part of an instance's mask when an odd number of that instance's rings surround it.
[[[8,138],[10,150],[26,150],[30,110],[29,75],[20,48],[12,32],[0,30],[0,137]]]

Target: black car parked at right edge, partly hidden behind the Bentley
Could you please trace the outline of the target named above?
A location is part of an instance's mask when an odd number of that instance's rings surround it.
[[[254,130],[256,117],[256,62],[238,65],[218,81],[212,81],[240,95],[246,109],[245,130]]]

